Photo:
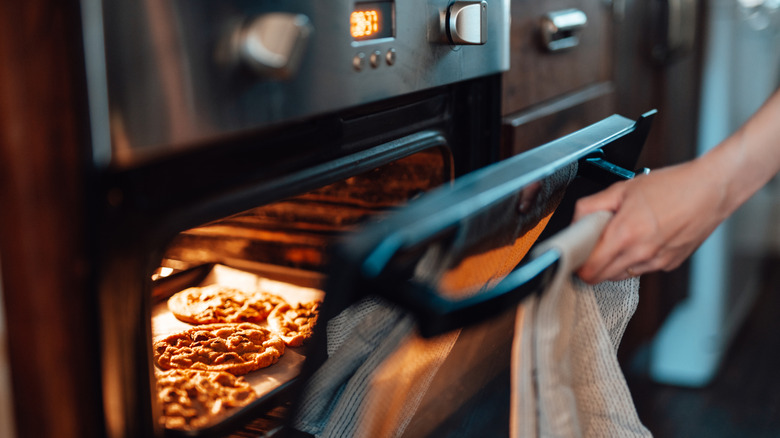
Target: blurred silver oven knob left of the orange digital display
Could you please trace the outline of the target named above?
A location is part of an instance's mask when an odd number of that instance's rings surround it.
[[[297,71],[311,32],[311,23],[305,15],[263,14],[237,33],[237,55],[258,74],[285,79]]]

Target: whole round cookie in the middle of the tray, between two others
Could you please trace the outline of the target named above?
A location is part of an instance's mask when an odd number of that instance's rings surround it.
[[[158,367],[227,371],[240,376],[276,363],[284,341],[265,327],[248,322],[206,324],[154,342]]]

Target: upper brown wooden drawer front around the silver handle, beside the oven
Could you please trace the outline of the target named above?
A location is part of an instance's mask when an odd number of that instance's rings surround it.
[[[588,24],[579,46],[560,52],[542,47],[539,20],[548,13],[577,8]],[[503,80],[503,114],[609,81],[612,77],[612,9],[603,0],[513,0],[510,71]]]

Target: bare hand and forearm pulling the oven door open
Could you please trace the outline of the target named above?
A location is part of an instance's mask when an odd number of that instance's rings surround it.
[[[679,266],[780,171],[780,90],[739,131],[691,160],[613,184],[577,202],[575,220],[612,220],[578,274],[589,283]]]

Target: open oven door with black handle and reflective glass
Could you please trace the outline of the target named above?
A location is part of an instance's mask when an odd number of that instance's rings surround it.
[[[515,308],[559,260],[526,254],[578,197],[634,176],[654,113],[467,174],[336,245],[291,430],[508,436]]]

